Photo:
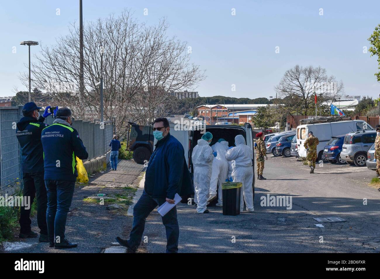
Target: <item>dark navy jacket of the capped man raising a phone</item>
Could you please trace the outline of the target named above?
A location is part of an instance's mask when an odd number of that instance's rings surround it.
[[[42,116],[22,117],[17,123],[16,136],[21,146],[22,172],[33,173],[44,171],[41,131],[47,125]]]

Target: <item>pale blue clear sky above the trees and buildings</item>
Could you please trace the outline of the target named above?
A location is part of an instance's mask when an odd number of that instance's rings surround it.
[[[200,96],[269,98],[285,71],[297,64],[326,68],[343,80],[348,95],[377,98],[380,93],[374,76],[376,57],[363,54],[363,46],[369,47],[367,38],[380,24],[378,0],[83,0],[85,21],[119,14],[124,8],[149,25],[166,17],[171,25],[168,35],[188,42],[192,62],[206,70],[207,78],[196,88]],[[79,0],[2,2],[0,96],[13,96],[14,87],[27,90],[18,79],[21,71],[27,71],[28,61],[27,46],[20,46],[20,41],[50,46],[68,33],[74,20],[79,20]],[[12,53],[14,46],[16,53]],[[40,46],[32,47],[32,54],[39,50]]]

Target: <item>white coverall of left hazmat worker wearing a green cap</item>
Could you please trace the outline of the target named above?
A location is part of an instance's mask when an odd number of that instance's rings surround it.
[[[194,186],[196,195],[196,212],[203,213],[207,208],[212,173],[212,148],[207,140],[199,139],[194,147],[192,161],[194,166]]]

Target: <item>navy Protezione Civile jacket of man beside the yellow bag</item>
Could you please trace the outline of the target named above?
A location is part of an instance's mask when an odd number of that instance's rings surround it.
[[[45,180],[76,181],[76,156],[87,159],[89,154],[76,129],[54,123],[43,129]]]

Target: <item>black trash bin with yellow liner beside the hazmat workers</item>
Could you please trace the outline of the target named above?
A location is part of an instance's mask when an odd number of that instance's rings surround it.
[[[236,216],[240,214],[241,182],[225,182],[222,184],[223,215]]]

